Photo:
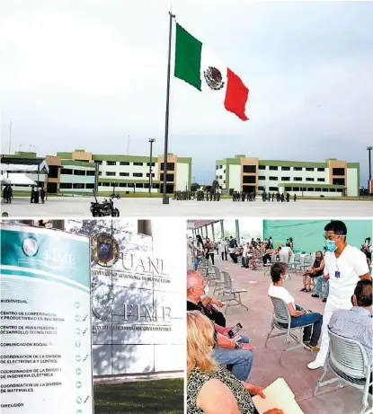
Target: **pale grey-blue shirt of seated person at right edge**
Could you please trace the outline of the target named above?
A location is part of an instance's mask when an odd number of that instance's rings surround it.
[[[333,313],[329,329],[344,338],[360,342],[367,350],[369,364],[372,364],[373,319],[369,311],[358,306],[354,306],[350,311],[339,309]]]

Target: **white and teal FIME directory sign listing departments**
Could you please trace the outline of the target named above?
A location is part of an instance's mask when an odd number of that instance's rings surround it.
[[[92,414],[89,238],[1,225],[1,412]]]

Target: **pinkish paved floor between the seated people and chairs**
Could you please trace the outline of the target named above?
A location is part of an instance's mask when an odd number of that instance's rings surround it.
[[[253,343],[254,362],[249,382],[266,386],[279,377],[284,378],[305,414],[358,414],[361,410],[362,393],[352,387],[342,388],[338,383],[334,383],[319,389],[318,396],[313,397],[315,383],[323,371],[322,368],[310,371],[306,367],[308,362],[315,359],[315,354],[305,348],[289,351],[282,358],[283,366],[280,366],[280,350],[284,345],[284,337],[270,339],[268,348],[264,348],[266,336],[271,329],[273,310],[267,295],[271,277],[264,276],[262,270],[242,269],[231,260],[216,261],[219,269],[226,270],[233,277],[236,286],[248,290],[242,297],[249,311],[241,306],[228,308],[226,320],[231,326],[241,322],[244,325],[242,332],[247,334]],[[321,299],[299,292],[302,285],[300,274],[291,272],[290,276],[287,288],[295,297],[296,303],[305,306],[306,309],[324,313],[324,303]]]

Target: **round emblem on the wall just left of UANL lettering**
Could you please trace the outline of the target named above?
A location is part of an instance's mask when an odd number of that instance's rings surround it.
[[[110,267],[120,257],[120,246],[109,233],[97,233],[91,243],[92,259],[102,267]]]

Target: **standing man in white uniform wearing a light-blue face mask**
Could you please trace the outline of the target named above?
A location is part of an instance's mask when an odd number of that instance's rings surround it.
[[[342,221],[332,221],[324,228],[326,253],[324,277],[329,280],[320,351],[309,369],[324,366],[329,348],[328,324],[337,309],[351,309],[351,296],[361,279],[371,279],[367,259],[362,251],[346,243],[347,227]]]

